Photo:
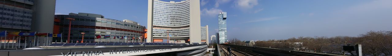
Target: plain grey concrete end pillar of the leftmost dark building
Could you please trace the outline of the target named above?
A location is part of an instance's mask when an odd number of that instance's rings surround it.
[[[34,0],[34,5],[32,7],[33,19],[30,32],[53,33],[55,5],[56,0]],[[30,39],[32,39],[32,37],[30,37]],[[39,38],[40,46],[43,46],[44,39],[46,38]],[[49,37],[49,40],[51,39],[52,38]]]

